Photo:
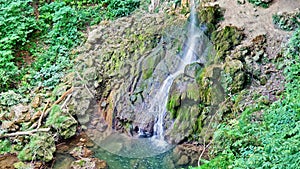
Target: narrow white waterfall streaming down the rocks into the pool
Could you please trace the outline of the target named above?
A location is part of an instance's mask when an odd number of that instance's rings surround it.
[[[157,120],[154,125],[154,133],[156,134],[155,138],[159,140],[164,139],[164,117],[167,112],[167,102],[168,102],[168,94],[171,88],[171,85],[175,78],[180,74],[184,73],[184,69],[188,64],[191,64],[197,60],[197,52],[196,47],[199,46],[199,39],[201,38],[202,32],[197,29],[197,14],[196,14],[196,7],[195,7],[195,0],[190,1],[190,22],[188,25],[188,38],[187,38],[187,45],[184,49],[184,54],[181,59],[181,63],[177,67],[176,71],[170,74],[162,83],[160,90],[154,96],[152,100],[152,106],[150,108],[153,112],[158,112]],[[157,110],[156,105],[160,105]]]

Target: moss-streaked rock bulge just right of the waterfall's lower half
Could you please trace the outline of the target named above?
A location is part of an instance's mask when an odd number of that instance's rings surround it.
[[[166,120],[166,138],[170,142],[180,143],[197,130],[198,117],[201,115],[199,90],[194,78],[182,75],[174,80],[167,104],[169,118],[174,119],[173,124]]]

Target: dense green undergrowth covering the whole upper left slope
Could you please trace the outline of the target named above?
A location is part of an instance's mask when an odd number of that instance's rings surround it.
[[[139,0],[0,0],[0,92],[53,89],[76,57],[89,25],[129,15]],[[32,63],[25,63],[30,58]]]

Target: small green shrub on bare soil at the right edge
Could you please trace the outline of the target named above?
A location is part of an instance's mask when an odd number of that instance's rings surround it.
[[[295,13],[275,14],[272,18],[275,26],[282,30],[292,31],[300,28],[300,11]]]

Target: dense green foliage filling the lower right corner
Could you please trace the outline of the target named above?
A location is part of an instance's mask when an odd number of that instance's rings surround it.
[[[215,132],[216,157],[200,168],[297,168],[300,161],[300,29],[285,51],[284,98],[246,109]],[[261,118],[256,114],[263,113]]]

